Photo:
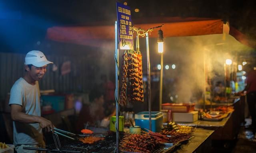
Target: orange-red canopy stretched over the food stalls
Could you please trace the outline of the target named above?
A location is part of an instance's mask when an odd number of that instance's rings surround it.
[[[133,23],[134,26],[144,30],[164,24],[164,26],[161,27],[164,31],[164,37],[223,33],[223,21],[221,19],[163,17],[150,18],[148,20],[133,20]],[[97,23],[96,25],[104,24]],[[112,47],[112,45],[114,45],[114,33],[114,24],[111,26],[55,26],[47,29],[46,37],[53,41],[65,43],[75,43],[93,47]],[[256,47],[253,41],[250,41],[246,35],[233,27],[230,28],[230,35],[244,45]],[[157,37],[157,32],[151,32],[149,37]]]

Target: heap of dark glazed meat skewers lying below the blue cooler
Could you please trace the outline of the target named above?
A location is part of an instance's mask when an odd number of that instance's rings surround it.
[[[126,134],[120,144],[121,151],[138,153],[151,153],[159,147],[159,141],[146,133]]]

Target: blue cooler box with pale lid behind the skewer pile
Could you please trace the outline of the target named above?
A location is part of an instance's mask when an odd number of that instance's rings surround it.
[[[149,129],[149,115],[148,111],[139,112],[135,114],[135,125],[140,126],[142,130]],[[163,113],[151,112],[151,131],[160,132],[163,125]]]

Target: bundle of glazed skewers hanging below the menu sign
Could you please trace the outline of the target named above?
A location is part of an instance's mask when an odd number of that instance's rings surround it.
[[[123,55],[122,63],[120,104],[126,104],[127,98],[132,103],[143,102],[142,55],[130,50]]]

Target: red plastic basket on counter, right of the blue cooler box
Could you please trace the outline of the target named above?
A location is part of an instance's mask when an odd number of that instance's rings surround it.
[[[162,104],[163,110],[171,110],[172,112],[192,112],[195,109],[195,104],[174,104],[174,103],[165,103]]]

